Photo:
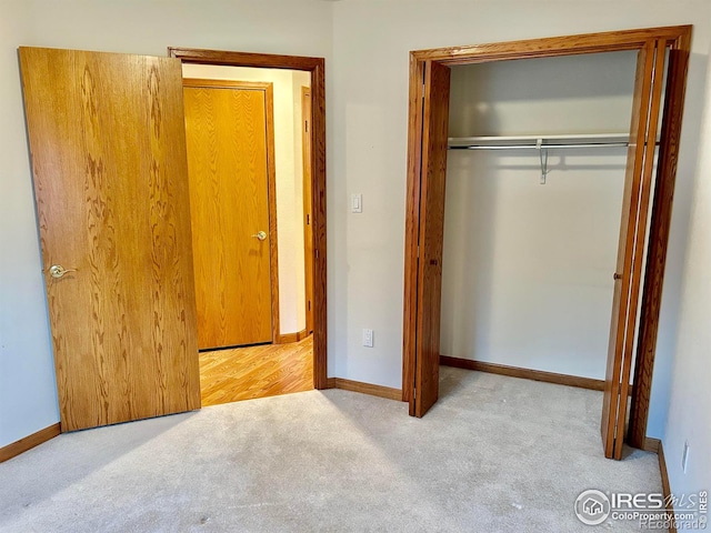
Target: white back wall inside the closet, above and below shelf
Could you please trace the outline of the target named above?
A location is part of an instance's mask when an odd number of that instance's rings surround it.
[[[637,52],[451,69],[449,137],[627,133]],[[440,353],[603,380],[627,149],[450,150]]]

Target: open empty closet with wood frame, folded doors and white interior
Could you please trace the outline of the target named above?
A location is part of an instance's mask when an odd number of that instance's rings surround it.
[[[411,52],[411,415],[437,402],[440,355],[604,375],[604,455],[621,459],[635,360],[629,441],[643,445],[690,36]]]

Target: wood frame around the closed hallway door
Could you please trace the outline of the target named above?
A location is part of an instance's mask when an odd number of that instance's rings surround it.
[[[267,201],[269,205],[269,285],[271,300],[271,340],[277,343],[279,330],[279,242],[277,240],[277,165],[274,157],[274,84],[271,81],[236,81],[183,78],[182,87],[206,89],[244,89],[264,92],[267,122]]]

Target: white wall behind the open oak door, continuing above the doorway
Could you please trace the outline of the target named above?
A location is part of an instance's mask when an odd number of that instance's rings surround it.
[[[313,0],[0,0],[0,9],[2,446],[59,420],[18,46],[154,56],[180,46],[326,57],[329,64],[332,9]]]

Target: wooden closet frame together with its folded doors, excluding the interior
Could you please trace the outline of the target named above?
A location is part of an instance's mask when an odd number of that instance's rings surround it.
[[[634,103],[628,137],[601,422],[605,456],[621,459],[634,346],[637,375],[651,376],[653,363],[690,34],[690,27],[657,28],[411,53],[402,384],[403,400],[410,402],[410,414],[422,416],[438,399],[450,67],[634,50]],[[665,58],[667,87],[662,105]],[[661,141],[657,178],[653,180],[660,119]],[[648,232],[651,204],[653,210]],[[642,279],[645,249],[648,268]],[[637,328],[640,306],[640,325]],[[643,333],[650,330],[653,334]],[[651,379],[639,383],[635,380],[632,420],[641,421],[642,425],[645,425],[649,409],[650,382]],[[630,434],[639,433],[639,424],[637,430],[630,429]]]

